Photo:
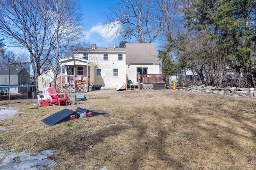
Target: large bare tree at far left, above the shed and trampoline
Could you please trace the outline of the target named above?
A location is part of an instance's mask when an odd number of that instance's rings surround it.
[[[34,76],[43,71],[54,44],[50,6],[38,0],[1,0],[0,34],[18,47],[25,47],[32,61]]]

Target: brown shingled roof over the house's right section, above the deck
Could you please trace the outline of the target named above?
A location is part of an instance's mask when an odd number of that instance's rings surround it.
[[[126,43],[126,63],[159,63],[154,43]]]

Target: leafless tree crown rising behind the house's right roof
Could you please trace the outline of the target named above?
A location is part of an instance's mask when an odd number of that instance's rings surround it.
[[[164,28],[163,16],[156,1],[120,0],[110,5],[105,18],[110,22],[110,30],[118,31],[115,36],[131,42],[151,43]]]

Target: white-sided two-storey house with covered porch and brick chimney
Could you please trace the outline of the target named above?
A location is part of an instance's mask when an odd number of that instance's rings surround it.
[[[94,84],[114,89],[127,78],[138,83],[138,74],[160,74],[160,60],[154,43],[126,43],[125,48],[79,48],[61,59],[64,75],[57,78],[57,90],[88,90]],[[61,71],[62,72],[62,71]]]

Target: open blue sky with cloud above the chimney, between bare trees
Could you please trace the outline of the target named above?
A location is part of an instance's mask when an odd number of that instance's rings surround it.
[[[111,35],[105,35],[106,21],[103,13],[108,11],[108,4],[111,2],[113,0],[80,0],[85,28],[82,41],[95,43],[96,47],[114,47],[114,45],[119,45],[119,41],[114,42]]]

